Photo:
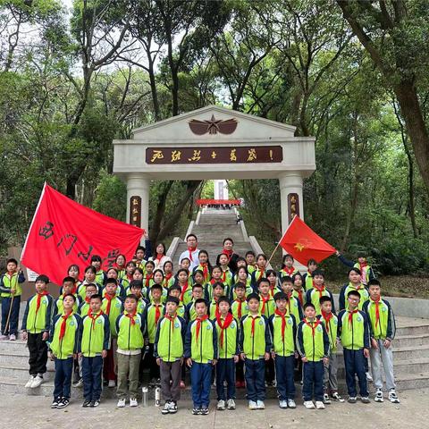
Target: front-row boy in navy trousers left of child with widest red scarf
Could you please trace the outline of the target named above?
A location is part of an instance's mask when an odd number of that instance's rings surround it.
[[[192,414],[206,416],[212,371],[218,358],[217,331],[214,322],[208,318],[205,299],[195,301],[195,311],[197,318],[189,322],[186,331],[184,357],[190,367]]]

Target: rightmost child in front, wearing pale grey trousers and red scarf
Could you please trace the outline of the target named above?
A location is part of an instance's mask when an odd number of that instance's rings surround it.
[[[392,403],[400,403],[396,393],[395,378],[393,374],[393,353],[391,350],[391,341],[395,337],[396,324],[395,316],[391,309],[389,301],[382,299],[381,283],[376,280],[370,280],[369,300],[366,301],[362,310],[366,313],[371,328],[371,369],[373,371],[375,402],[383,402],[383,377],[386,380],[386,388],[389,392],[388,399]]]

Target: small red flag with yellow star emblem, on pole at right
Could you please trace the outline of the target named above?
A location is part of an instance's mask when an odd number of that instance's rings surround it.
[[[308,259],[323,261],[335,248],[319,237],[299,216],[295,216],[279,243],[294,259],[307,265]]]

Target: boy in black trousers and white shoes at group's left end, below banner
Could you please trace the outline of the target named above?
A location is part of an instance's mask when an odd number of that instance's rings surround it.
[[[54,299],[47,292],[49,279],[45,274],[36,279],[36,295],[27,301],[22,320],[22,340],[27,341],[29,348],[29,381],[25,387],[35,389],[44,382],[46,373],[47,345],[51,311]]]

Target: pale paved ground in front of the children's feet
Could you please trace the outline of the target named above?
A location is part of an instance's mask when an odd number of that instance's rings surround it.
[[[372,402],[364,405],[357,403],[335,403],[325,410],[307,410],[299,405],[296,409],[282,410],[277,401],[266,401],[265,410],[250,411],[244,400],[238,401],[235,411],[214,410],[212,403],[208,416],[191,416],[190,403],[180,403],[179,412],[175,416],[162,416],[160,410],[152,404],[148,408],[115,408],[115,400],[106,400],[98,408],[81,408],[74,402],[63,410],[50,409],[50,398],[2,395],[0,400],[0,427],[25,428],[58,428],[62,429],[92,429],[99,425],[102,429],[169,428],[189,429],[203,426],[206,428],[228,428],[231,423],[240,427],[245,425],[251,429],[268,428],[282,429],[307,428],[323,425],[331,428],[344,428],[353,425],[354,428],[369,429],[380,427],[428,427],[429,408],[427,397],[429,390],[400,392],[400,405],[388,401],[383,404]],[[322,422],[323,418],[323,422]]]

